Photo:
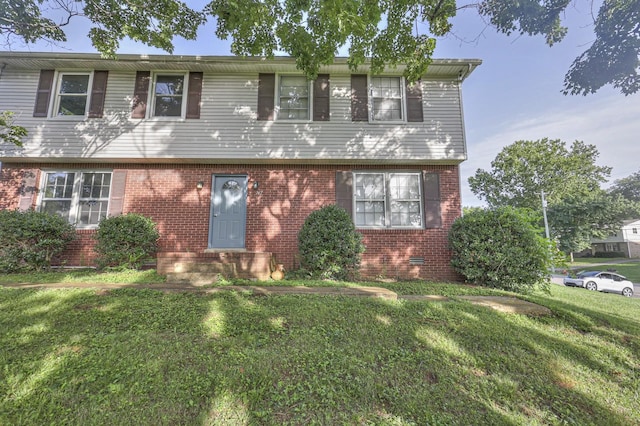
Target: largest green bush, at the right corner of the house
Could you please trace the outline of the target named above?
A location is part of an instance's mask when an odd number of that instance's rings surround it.
[[[557,250],[537,223],[536,215],[511,207],[470,212],[449,232],[451,265],[470,283],[520,293],[548,290]]]

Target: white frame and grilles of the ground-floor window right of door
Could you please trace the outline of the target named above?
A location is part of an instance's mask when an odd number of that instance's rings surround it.
[[[366,200],[366,198],[358,198],[358,176],[362,175],[382,175],[384,188],[383,188],[383,225],[360,225],[358,224],[358,202]],[[397,200],[393,198],[391,181],[392,177],[396,175],[408,175],[417,177],[417,190],[418,196],[414,199],[400,199],[401,202],[418,202],[420,207],[420,225],[419,226],[407,226],[407,225],[393,225],[392,203]],[[352,172],[353,177],[353,192],[352,192],[352,211],[353,222],[358,229],[426,229],[425,224],[425,195],[424,195],[424,182],[421,171],[415,170],[357,170]],[[375,202],[380,202],[380,199],[371,199]]]

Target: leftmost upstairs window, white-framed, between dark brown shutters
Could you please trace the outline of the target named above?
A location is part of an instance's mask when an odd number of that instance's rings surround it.
[[[90,73],[59,73],[52,115],[84,117],[89,107],[90,80]]]

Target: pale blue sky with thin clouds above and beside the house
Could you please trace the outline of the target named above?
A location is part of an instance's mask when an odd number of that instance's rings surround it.
[[[567,145],[576,140],[595,145],[600,152],[597,164],[613,168],[605,187],[640,170],[640,93],[624,96],[611,87],[587,96],[561,92],[571,63],[594,40],[591,3],[570,4],[562,17],[569,32],[553,47],[542,37],[499,34],[474,9],[459,11],[452,33],[438,40],[435,58],[483,61],[462,89],[468,150],[460,168],[463,206],[484,205],[469,190],[468,178],[477,169],[490,170],[502,148],[519,140],[547,137]],[[63,45],[14,43],[11,50],[95,52],[87,31],[86,23],[77,20]],[[196,41],[176,39],[173,53],[229,55],[229,46],[229,41],[215,38],[209,23]],[[131,41],[122,42],[118,53],[166,54]]]

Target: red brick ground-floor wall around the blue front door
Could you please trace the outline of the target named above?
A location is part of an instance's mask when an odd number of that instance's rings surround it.
[[[305,218],[323,205],[335,203],[335,173],[338,170],[372,166],[281,166],[273,165],[56,165],[54,169],[127,170],[124,208],[151,217],[161,234],[161,252],[201,253],[207,248],[211,178],[213,174],[247,175],[246,249],[272,252],[287,269],[298,266],[297,233]],[[394,169],[397,167],[375,167]],[[403,167],[407,169],[407,167]],[[362,272],[382,278],[458,280],[449,266],[447,232],[460,215],[457,166],[424,166],[416,170],[440,174],[443,227],[426,230],[363,230],[367,251]],[[0,208],[19,203],[20,165],[4,165],[0,176]],[[197,183],[204,187],[197,189]],[[253,189],[253,183],[258,188]],[[33,203],[35,203],[35,195]],[[80,231],[79,238],[64,253],[67,265],[90,264],[94,255],[93,231]],[[423,265],[411,265],[422,259]]]

